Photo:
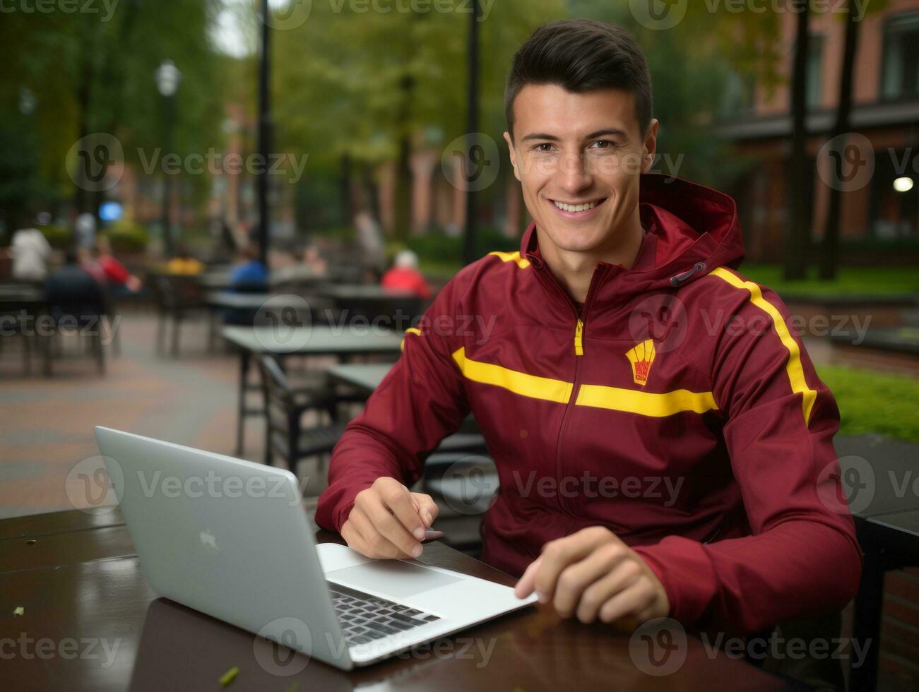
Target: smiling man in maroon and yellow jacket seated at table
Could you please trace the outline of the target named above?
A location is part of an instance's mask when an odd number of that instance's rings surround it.
[[[518,596],[735,632],[843,607],[860,550],[838,408],[785,305],[737,272],[733,200],[645,173],[658,121],[638,45],[600,22],[539,28],[505,110],[534,223],[409,330],[335,448],[317,522],[370,557],[420,554],[437,505],[406,485],[471,410],[500,479],[482,560],[522,575]]]

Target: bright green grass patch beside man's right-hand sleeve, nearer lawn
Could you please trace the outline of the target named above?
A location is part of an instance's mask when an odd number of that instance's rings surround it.
[[[838,365],[817,372],[839,404],[840,435],[878,433],[919,443],[919,379]]]

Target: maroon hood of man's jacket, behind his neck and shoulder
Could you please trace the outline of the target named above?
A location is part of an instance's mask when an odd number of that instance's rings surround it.
[[[729,195],[659,173],[642,174],[640,186],[639,213],[647,233],[634,266],[618,277],[620,296],[677,288],[716,267],[740,265],[743,236]],[[520,255],[534,267],[543,264],[535,222],[523,235]]]

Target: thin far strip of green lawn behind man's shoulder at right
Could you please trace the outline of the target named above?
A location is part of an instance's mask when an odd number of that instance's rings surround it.
[[[779,265],[742,264],[740,272],[756,283],[782,293],[815,293],[845,295],[868,293],[886,295],[919,291],[919,267],[840,267],[833,281],[818,281],[817,269],[811,267],[808,278],[786,281]]]

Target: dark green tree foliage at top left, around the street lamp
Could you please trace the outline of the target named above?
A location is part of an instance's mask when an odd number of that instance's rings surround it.
[[[183,74],[176,94],[174,151],[184,155],[205,153],[209,145],[221,147],[213,136],[220,132],[223,115],[221,63],[207,38],[219,6],[221,0],[122,0],[110,6],[110,14],[103,3],[86,5],[86,12],[56,7],[27,12],[16,5],[4,13],[0,121],[23,118],[18,112],[22,89],[35,96],[34,112],[25,116],[24,125],[35,137],[19,147],[28,146],[22,158],[37,162],[42,185],[41,195],[30,191],[29,197],[74,197],[65,156],[83,134],[114,135],[130,164],[139,163],[138,147],[150,157],[163,146],[162,98],[153,74],[167,58]],[[3,177],[0,170],[0,181]],[[202,180],[190,183],[199,197],[206,192]]]

